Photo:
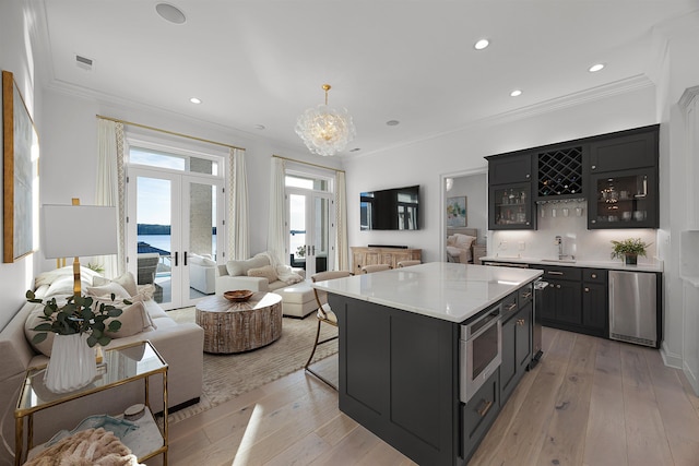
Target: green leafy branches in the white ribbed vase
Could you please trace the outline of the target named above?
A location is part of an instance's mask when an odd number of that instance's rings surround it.
[[[35,344],[46,339],[47,333],[52,332],[58,335],[88,334],[87,345],[90,347],[99,344],[108,345],[111,338],[105,335],[105,331],[118,332],[121,322],[116,320],[121,315],[121,309],[105,302],[95,302],[88,296],[71,296],[63,306],[58,306],[56,298],[44,300],[36,297],[34,291],[26,292],[26,300],[37,304],[44,304],[44,315],[39,318],[45,322],[38,324],[33,331],[37,332],[32,338]],[[111,301],[115,295],[111,294]],[[125,300],[125,304],[130,301]],[[94,306],[94,308],[93,308]],[[111,321],[106,322],[108,319]]]

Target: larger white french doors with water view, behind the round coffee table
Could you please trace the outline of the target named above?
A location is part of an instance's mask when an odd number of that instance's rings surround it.
[[[129,170],[128,268],[139,284],[153,284],[163,309],[192,306],[215,292],[221,183],[196,174]]]

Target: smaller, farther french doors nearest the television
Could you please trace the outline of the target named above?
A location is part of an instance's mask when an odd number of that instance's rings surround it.
[[[307,278],[332,270],[334,211],[330,193],[294,188],[287,188],[286,192],[291,265],[305,268]]]

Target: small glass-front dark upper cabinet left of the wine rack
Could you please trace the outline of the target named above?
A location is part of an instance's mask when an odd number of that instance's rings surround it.
[[[490,186],[488,228],[536,229],[536,216],[532,215],[531,183]]]

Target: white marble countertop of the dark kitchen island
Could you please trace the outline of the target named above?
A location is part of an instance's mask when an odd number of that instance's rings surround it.
[[[350,298],[463,322],[542,275],[534,268],[431,262],[312,284]]]

